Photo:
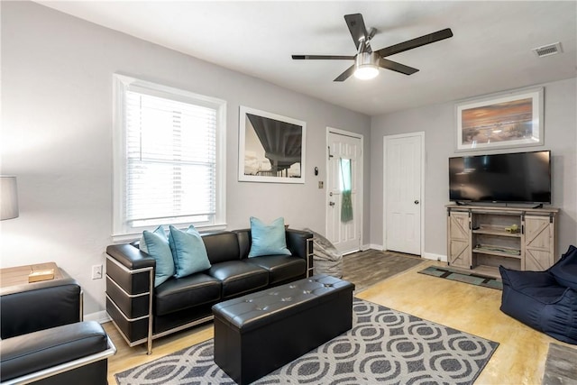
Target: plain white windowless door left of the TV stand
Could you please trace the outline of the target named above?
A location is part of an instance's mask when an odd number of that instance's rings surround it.
[[[384,243],[395,252],[421,254],[424,133],[384,139]]]

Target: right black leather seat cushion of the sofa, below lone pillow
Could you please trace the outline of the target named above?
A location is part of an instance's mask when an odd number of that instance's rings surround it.
[[[304,278],[307,273],[307,261],[292,255],[265,255],[251,258],[247,262],[268,270],[270,285]]]

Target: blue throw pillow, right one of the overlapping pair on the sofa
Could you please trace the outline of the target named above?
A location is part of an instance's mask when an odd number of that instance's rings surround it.
[[[205,243],[195,226],[190,225],[184,232],[171,225],[169,243],[176,268],[176,274],[174,274],[176,278],[210,269]]]

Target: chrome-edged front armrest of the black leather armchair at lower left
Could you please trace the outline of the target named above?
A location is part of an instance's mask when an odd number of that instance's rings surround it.
[[[115,352],[114,344],[95,321],[19,335],[0,341],[0,380],[40,380]]]

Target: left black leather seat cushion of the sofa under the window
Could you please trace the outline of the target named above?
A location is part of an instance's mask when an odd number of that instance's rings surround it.
[[[154,289],[154,314],[163,316],[188,307],[216,302],[220,294],[220,281],[204,273],[168,280]]]

